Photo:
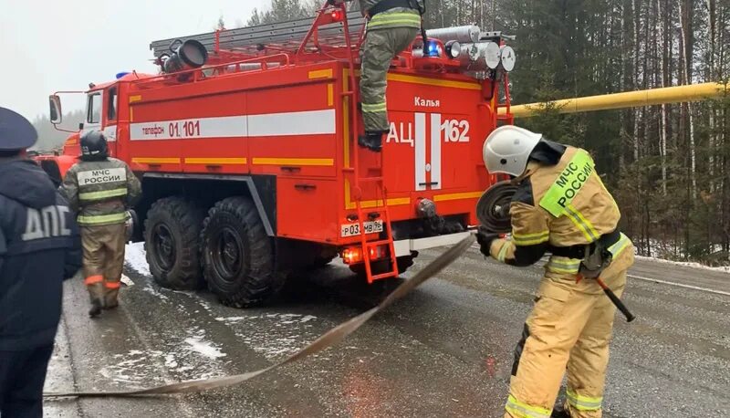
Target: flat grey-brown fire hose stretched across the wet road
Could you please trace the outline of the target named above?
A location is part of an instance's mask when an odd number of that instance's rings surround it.
[[[293,355],[287,357],[283,361],[279,361],[269,367],[258,371],[248,371],[242,374],[236,374],[234,376],[221,376],[211,379],[198,379],[193,381],[181,381],[179,383],[172,383],[162,386],[157,386],[149,389],[139,389],[132,391],[117,391],[117,392],[47,392],[44,393],[44,397],[62,397],[62,396],[76,396],[79,398],[104,398],[104,397],[133,397],[142,395],[159,395],[159,394],[172,394],[172,393],[192,393],[192,392],[203,392],[211,389],[223,388],[226,386],[234,386],[244,381],[255,378],[268,371],[273,371],[289,363],[302,360],[312,354],[315,354],[321,350],[325,350],[330,346],[333,346],[339,341],[344,340],[349,334],[359,329],[365,322],[374,317],[384,308],[392,305],[396,300],[404,297],[410,293],[414,288],[422,285],[423,282],[429,278],[438,274],[443,268],[452,264],[459,256],[461,256],[466,249],[468,249],[474,243],[474,235],[469,235],[464,238],[461,242],[448,249],[441,256],[438,256],[433,262],[423,267],[421,271],[416,273],[411,279],[402,283],[401,286],[396,287],[391,294],[383,299],[383,301],[375,308],[370,308],[357,317],[347,320],[339,324],[337,327],[328,330],[321,337],[314,342],[310,343],[307,347],[297,351]]]

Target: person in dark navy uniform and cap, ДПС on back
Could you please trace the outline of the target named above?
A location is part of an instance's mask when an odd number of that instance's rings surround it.
[[[26,158],[36,130],[0,108],[0,416],[43,416],[43,384],[62,283],[81,267],[78,225],[50,178]]]

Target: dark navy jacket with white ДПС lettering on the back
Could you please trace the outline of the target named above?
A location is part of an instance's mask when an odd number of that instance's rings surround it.
[[[81,266],[74,213],[35,162],[0,160],[0,350],[53,344]]]

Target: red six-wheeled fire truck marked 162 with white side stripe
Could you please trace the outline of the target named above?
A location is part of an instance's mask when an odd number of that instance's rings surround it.
[[[359,12],[324,5],[314,19],[153,42],[160,73],[89,85],[80,131],[38,160],[60,180],[79,135],[106,133],[141,179],[133,237],[164,287],[207,282],[245,307],[335,256],[369,283],[396,277],[477,223],[495,180],[483,141],[511,122],[514,52],[477,26],[418,37],[392,62],[391,131],[371,152],[357,141],[365,28]],[[50,105],[60,123],[58,94]]]

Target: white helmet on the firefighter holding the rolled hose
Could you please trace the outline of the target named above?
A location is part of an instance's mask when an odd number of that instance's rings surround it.
[[[504,172],[521,175],[527,169],[530,153],[542,138],[541,133],[513,125],[500,126],[486,138],[482,150],[486,170],[491,174]]]

